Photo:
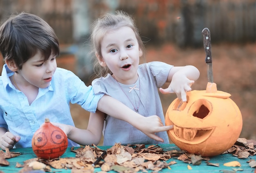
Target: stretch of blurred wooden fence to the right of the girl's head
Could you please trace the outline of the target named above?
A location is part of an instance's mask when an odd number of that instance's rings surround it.
[[[256,41],[256,0],[124,0],[119,9],[153,42],[201,46],[205,27],[213,43]]]

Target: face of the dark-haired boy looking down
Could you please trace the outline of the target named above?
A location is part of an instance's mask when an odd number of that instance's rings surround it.
[[[51,55],[47,61],[44,61],[42,54],[38,51],[34,57],[23,64],[22,69],[18,70],[18,74],[23,77],[23,83],[32,84],[38,88],[46,88],[52,81],[56,68],[55,56]]]

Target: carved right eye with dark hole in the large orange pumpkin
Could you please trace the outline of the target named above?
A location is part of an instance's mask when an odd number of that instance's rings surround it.
[[[209,115],[211,103],[204,99],[199,99],[195,101],[190,109],[189,109],[189,115],[193,115],[197,118],[205,118],[207,115]]]

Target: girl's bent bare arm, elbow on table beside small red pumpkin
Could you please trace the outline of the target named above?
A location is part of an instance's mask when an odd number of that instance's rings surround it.
[[[52,123],[60,127],[67,138],[78,143],[79,145],[98,145],[101,140],[103,123],[105,114],[97,110],[95,113],[90,113],[89,123],[87,129],[79,129],[72,125],[65,125],[61,123]]]

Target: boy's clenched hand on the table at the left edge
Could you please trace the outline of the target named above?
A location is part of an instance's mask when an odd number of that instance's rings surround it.
[[[7,131],[0,139],[0,148],[2,150],[5,150],[6,148],[12,149],[19,141],[20,136],[15,136],[11,132]]]

